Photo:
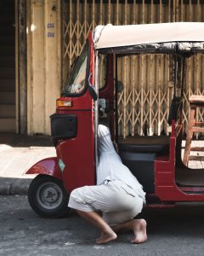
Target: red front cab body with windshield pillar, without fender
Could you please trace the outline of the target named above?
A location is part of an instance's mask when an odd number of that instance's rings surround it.
[[[90,82],[94,84],[94,45],[90,43]],[[95,184],[94,101],[88,90],[79,97],[60,99],[71,100],[73,104],[71,108],[58,108],[57,113],[77,116],[77,137],[59,143],[56,148],[58,159],[65,163],[62,177],[65,189],[70,193],[78,187]]]

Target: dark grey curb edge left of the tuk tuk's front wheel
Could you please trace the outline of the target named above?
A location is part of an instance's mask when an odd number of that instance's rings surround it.
[[[0,178],[0,195],[27,195],[31,178]]]

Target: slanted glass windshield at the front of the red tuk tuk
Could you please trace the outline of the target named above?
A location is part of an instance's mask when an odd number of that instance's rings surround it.
[[[86,86],[86,74],[88,67],[88,42],[82,49],[81,55],[79,55],[71,70],[71,75],[65,84],[65,90],[63,96],[71,94],[82,94],[82,91]]]

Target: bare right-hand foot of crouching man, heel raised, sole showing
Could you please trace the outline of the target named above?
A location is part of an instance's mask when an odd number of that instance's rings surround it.
[[[135,237],[131,242],[141,243],[147,240],[146,221],[144,218],[133,219],[133,233]]]

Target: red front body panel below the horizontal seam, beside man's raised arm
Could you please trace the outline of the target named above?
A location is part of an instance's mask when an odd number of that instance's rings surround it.
[[[77,137],[59,143],[57,155],[65,163],[65,189],[95,184],[93,112],[71,112],[77,115]]]

